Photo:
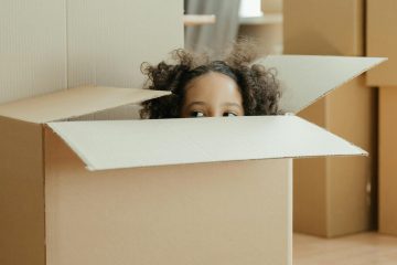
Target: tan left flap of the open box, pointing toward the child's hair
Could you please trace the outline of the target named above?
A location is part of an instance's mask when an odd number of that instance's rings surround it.
[[[0,106],[0,115],[30,123],[47,123],[169,95],[170,92],[83,86]]]

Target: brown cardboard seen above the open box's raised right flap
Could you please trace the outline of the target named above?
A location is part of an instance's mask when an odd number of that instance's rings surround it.
[[[285,0],[283,25],[286,54],[364,55],[364,0]]]

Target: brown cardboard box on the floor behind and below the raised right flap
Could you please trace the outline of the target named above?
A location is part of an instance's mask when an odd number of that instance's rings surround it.
[[[293,229],[325,237],[366,231],[375,223],[375,91],[360,76],[299,113],[352,142],[369,157],[294,162]],[[310,191],[310,192],[308,192]]]

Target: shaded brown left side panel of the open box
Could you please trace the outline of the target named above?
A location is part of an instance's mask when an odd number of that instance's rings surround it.
[[[45,264],[42,126],[0,117],[0,263]]]

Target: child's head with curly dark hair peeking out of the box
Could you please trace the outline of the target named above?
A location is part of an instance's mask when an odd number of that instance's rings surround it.
[[[143,103],[143,118],[251,116],[278,114],[280,91],[275,74],[256,59],[253,46],[238,43],[222,61],[173,52],[174,63],[142,65],[147,88],[173,94]]]

